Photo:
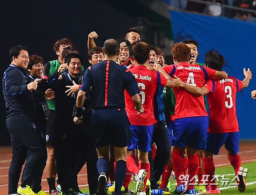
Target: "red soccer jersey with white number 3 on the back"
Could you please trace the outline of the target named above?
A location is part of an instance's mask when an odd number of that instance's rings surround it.
[[[243,82],[229,76],[226,79],[213,78],[204,84],[209,91],[209,127],[210,133],[238,132],[236,118],[236,92],[241,90]]]

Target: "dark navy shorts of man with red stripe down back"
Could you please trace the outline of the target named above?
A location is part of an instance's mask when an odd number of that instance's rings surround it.
[[[95,109],[91,120],[96,148],[131,144],[130,122],[124,108]]]

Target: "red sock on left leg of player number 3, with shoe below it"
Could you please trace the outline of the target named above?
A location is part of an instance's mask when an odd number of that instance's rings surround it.
[[[212,157],[203,157],[203,170],[205,172],[205,175],[209,176],[208,181],[206,183],[216,183],[215,180],[212,181],[214,172],[215,172],[215,166],[213,163],[213,158]],[[205,178],[207,179],[207,178]],[[218,186],[217,185],[211,185],[211,189],[215,190]]]

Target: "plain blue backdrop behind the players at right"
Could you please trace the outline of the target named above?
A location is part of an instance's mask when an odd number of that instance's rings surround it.
[[[218,50],[225,57],[225,70],[230,76],[244,79],[243,68],[250,68],[253,77],[249,87],[236,96],[236,112],[240,137],[256,139],[256,100],[250,92],[256,89],[256,24],[235,19],[170,11],[174,41],[195,39],[198,44],[198,63],[205,54]]]

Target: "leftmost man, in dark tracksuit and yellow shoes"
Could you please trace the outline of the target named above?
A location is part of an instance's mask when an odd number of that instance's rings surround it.
[[[6,126],[11,136],[13,157],[9,168],[8,194],[31,195],[41,190],[33,186],[32,178],[46,165],[45,141],[34,124],[36,103],[31,90],[36,90],[40,79],[27,84],[24,71],[29,63],[27,48],[17,45],[10,50],[11,64],[3,76],[3,94],[7,107]],[[28,155],[27,155],[28,152]],[[17,191],[22,164],[27,157],[26,169]],[[21,165],[21,166],[20,166]]]

